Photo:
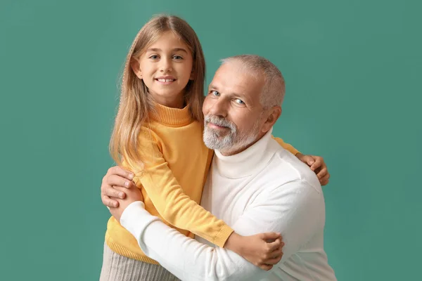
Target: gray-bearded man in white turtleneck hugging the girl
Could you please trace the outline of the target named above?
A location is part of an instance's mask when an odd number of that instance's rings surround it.
[[[325,205],[314,172],[271,138],[284,80],[257,55],[226,58],[203,104],[203,139],[215,150],[201,206],[241,235],[281,233],[283,258],[262,270],[224,248],[193,240],[143,209],[137,188],[110,211],[144,253],[181,280],[336,280],[324,251]]]

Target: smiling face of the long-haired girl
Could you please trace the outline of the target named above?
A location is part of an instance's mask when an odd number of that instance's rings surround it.
[[[193,79],[193,57],[188,45],[176,34],[163,33],[131,65],[155,102],[183,107],[184,89],[189,79]]]

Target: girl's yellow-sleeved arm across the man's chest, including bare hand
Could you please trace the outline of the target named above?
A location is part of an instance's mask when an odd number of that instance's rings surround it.
[[[147,130],[143,128],[139,140],[143,148],[139,151],[143,168],[135,173],[134,181],[148,193],[160,216],[177,228],[188,230],[219,247],[231,249],[255,265],[263,265],[262,256],[270,251],[267,240],[257,235],[237,235],[224,221],[191,200],[167,165],[157,141],[151,138],[153,133]],[[132,171],[140,170],[130,162],[126,163]]]

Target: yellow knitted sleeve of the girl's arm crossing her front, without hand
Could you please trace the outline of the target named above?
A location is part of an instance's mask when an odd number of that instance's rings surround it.
[[[224,247],[233,230],[184,193],[151,131],[143,128],[139,141],[143,167],[125,162],[135,172],[134,182],[148,193],[160,216],[177,228]]]

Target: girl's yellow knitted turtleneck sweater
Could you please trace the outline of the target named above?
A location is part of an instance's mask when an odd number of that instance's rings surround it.
[[[191,118],[188,107],[155,107],[151,122],[139,134],[143,167],[127,165],[139,171],[134,182],[141,188],[145,208],[180,233],[198,235],[223,247],[233,230],[199,205],[213,155],[203,144],[202,124]],[[276,140],[290,152],[298,152]],[[157,264],[143,254],[136,239],[113,216],[107,224],[106,243],[117,254]]]

